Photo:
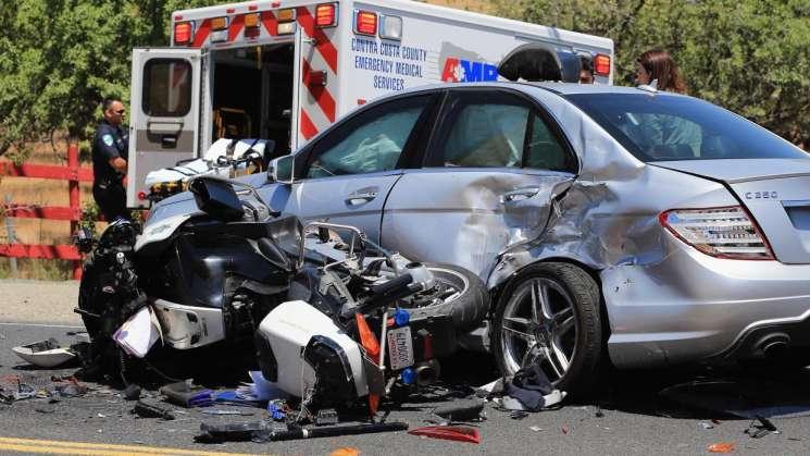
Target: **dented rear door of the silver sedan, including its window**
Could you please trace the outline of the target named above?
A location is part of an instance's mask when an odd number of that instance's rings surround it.
[[[546,229],[576,157],[539,104],[502,87],[452,89],[439,119],[423,168],[388,197],[381,241],[486,280],[500,252]]]

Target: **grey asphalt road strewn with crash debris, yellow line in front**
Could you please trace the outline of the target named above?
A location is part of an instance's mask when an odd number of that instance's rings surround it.
[[[3,284],[0,282],[0,288]],[[0,289],[0,295],[3,295]],[[46,293],[42,296],[48,296]],[[5,294],[8,297],[9,295]],[[26,303],[37,305],[36,294]],[[8,307],[7,304],[3,304]],[[27,306],[25,306],[27,307]],[[9,386],[13,379],[35,386],[45,386],[52,375],[71,375],[76,367],[38,369],[16,357],[11,348],[48,337],[64,344],[74,342],[70,321],[57,319],[61,325],[50,325],[47,316],[37,315],[30,323],[14,318],[8,311],[0,321],[0,382]],[[221,356],[221,355],[217,355]],[[203,357],[197,368],[222,374],[221,385],[230,386],[248,380],[245,371],[226,366],[222,358]],[[482,355],[461,354],[445,365],[448,384],[461,382],[483,384],[491,380],[494,368]],[[808,454],[810,452],[810,417],[774,418],[778,434],[769,433],[751,439],[744,431],[748,419],[733,419],[720,412],[689,409],[661,397],[659,391],[666,386],[706,375],[727,375],[727,372],[657,370],[622,372],[606,383],[591,403],[565,404],[557,410],[531,414],[523,419],[512,419],[491,404],[485,408],[486,421],[477,423],[481,444],[450,442],[409,435],[404,432],[313,439],[292,442],[224,444],[195,443],[202,421],[238,422],[266,417],[262,409],[250,409],[252,416],[215,417],[203,415],[202,409],[176,410],[177,419],[163,421],[155,418],[136,418],[129,414],[132,402],[121,397],[120,391],[107,385],[86,383],[90,391],[74,398],[49,403],[45,398],[18,400],[0,405],[0,453],[26,454],[329,454],[339,447],[352,447],[361,454],[707,454],[708,446],[719,442],[735,444],[735,454]],[[737,379],[753,382],[758,394],[790,391],[801,405],[810,404],[810,373],[789,379],[760,380],[751,372]],[[697,377],[696,377],[697,375]],[[796,385],[802,386],[796,386]],[[759,389],[759,390],[758,390]],[[794,393],[795,392],[795,393]],[[147,394],[158,398],[154,391]],[[784,395],[784,394],[783,394]],[[435,406],[447,405],[452,398],[414,397],[399,409],[390,410],[389,421],[404,421],[410,428],[427,426],[424,420]],[[765,400],[767,402],[767,400]],[[767,405],[767,404],[763,404]],[[233,409],[222,407],[220,409]],[[600,411],[600,412],[599,412]],[[599,415],[599,416],[598,416]],[[712,419],[715,419],[712,422]],[[711,424],[712,429],[705,429]],[[94,446],[96,445],[96,446]],[[125,446],[111,446],[125,445]]]

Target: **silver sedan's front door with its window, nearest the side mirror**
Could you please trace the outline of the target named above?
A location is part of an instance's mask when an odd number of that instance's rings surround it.
[[[414,95],[375,103],[316,138],[296,159],[296,182],[284,212],[303,222],[353,225],[379,242],[383,205],[407,157],[420,148],[419,132],[433,114],[435,98]]]

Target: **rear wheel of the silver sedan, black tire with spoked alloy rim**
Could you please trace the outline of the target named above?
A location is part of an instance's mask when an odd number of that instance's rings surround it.
[[[532,313],[540,296],[547,304]],[[573,264],[536,263],[521,271],[503,289],[493,319],[491,347],[501,373],[539,362],[556,389],[587,395],[603,350],[600,296],[596,281]]]

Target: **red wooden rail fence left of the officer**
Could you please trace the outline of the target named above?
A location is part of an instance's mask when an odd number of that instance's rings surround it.
[[[78,229],[82,220],[79,202],[79,182],[92,182],[92,168],[82,168],[78,163],[78,145],[67,146],[67,167],[48,164],[13,164],[0,162],[0,176],[37,177],[67,181],[70,207],[42,207],[34,205],[2,205],[4,217],[18,219],[65,220],[71,222],[71,233]],[[73,278],[82,279],[82,254],[73,245],[29,245],[0,244],[0,257],[49,258],[73,260]]]

